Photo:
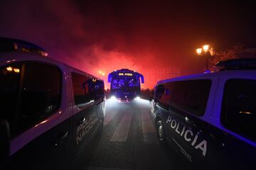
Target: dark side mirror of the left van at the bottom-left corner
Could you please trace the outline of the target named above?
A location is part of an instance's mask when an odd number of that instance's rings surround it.
[[[10,128],[7,120],[0,121],[0,168],[4,166],[10,156]]]

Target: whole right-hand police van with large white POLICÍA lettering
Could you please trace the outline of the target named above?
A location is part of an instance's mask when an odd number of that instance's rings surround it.
[[[157,137],[190,169],[255,169],[256,60],[217,67],[158,81],[152,103]]]

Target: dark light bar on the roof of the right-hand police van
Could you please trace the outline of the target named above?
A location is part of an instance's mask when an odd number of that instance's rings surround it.
[[[218,62],[215,65],[220,71],[229,69],[256,69],[256,59],[234,59]]]

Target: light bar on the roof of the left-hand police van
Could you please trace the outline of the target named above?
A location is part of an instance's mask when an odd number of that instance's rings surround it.
[[[46,50],[43,50],[42,47],[39,47],[31,42],[0,37],[0,52],[9,51],[35,52],[45,57],[48,56],[48,52],[46,52]]]

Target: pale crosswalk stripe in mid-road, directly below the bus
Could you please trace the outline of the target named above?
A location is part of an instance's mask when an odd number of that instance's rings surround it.
[[[114,135],[111,137],[110,141],[112,142],[126,142],[127,136],[129,133],[129,127],[131,125],[132,113],[124,113],[122,120],[120,121],[117,130],[114,132]]]

